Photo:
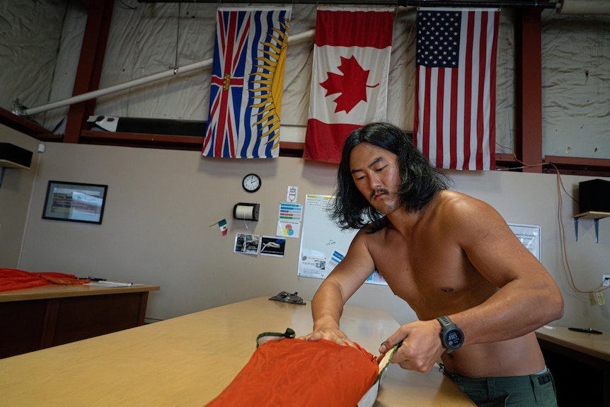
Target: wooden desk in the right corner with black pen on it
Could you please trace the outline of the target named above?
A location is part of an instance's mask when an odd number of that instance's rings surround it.
[[[572,403],[610,406],[609,333],[600,335],[570,331],[563,326],[543,326],[536,330],[536,337],[556,379],[558,402],[564,401],[560,406]],[[578,364],[584,364],[585,368]],[[594,383],[596,379],[599,384]]]

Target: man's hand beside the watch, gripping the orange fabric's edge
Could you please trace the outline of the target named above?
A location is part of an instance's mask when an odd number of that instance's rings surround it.
[[[403,342],[392,356],[392,363],[403,369],[427,373],[444,352],[441,343],[441,326],[437,320],[407,323],[381,344],[379,352],[386,352]]]

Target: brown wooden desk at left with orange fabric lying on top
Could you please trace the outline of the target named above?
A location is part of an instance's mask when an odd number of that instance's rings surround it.
[[[0,292],[0,357],[144,324],[157,285],[45,285]]]

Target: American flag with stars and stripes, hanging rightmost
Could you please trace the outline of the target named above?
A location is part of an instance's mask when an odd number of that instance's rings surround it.
[[[414,139],[438,168],[495,168],[499,21],[497,9],[418,11]]]

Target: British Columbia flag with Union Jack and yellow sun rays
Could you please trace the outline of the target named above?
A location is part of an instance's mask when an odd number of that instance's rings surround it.
[[[279,155],[291,9],[218,9],[204,156]]]

